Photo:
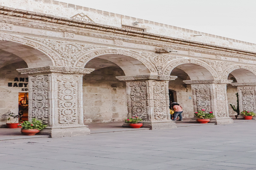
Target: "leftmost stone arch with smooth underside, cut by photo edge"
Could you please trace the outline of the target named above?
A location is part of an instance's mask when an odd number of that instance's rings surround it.
[[[14,47],[17,50],[15,55],[22,58],[27,63],[28,67],[62,65],[63,63],[54,51],[22,36],[0,33],[0,41],[8,43],[9,47],[12,45],[10,43],[14,42]],[[4,43],[2,43],[2,45],[4,46]],[[17,48],[17,46],[20,46],[23,50],[25,48],[27,49],[26,51],[18,51],[19,48]],[[3,50],[8,51],[8,47],[3,48]]]

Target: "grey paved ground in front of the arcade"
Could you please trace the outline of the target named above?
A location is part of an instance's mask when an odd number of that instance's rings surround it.
[[[256,170],[256,121],[0,141],[0,169]]]

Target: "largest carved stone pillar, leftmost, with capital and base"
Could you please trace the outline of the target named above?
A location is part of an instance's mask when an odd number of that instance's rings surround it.
[[[83,74],[94,69],[41,67],[17,69],[29,74],[29,121],[43,121],[40,134],[63,137],[89,134],[83,124]]]

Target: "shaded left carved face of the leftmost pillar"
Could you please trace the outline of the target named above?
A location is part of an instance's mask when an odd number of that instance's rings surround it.
[[[48,124],[49,117],[49,76],[29,76],[29,119],[36,118]]]

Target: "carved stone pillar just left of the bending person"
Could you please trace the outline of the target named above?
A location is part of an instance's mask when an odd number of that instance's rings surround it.
[[[169,80],[176,76],[157,75],[119,76],[126,81],[128,118],[138,116],[143,127],[150,129],[176,128],[170,119]]]

